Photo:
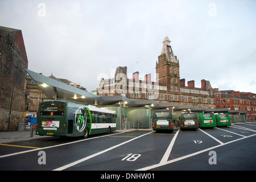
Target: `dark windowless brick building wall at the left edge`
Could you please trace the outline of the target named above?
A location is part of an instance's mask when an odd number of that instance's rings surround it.
[[[21,30],[0,27],[0,131],[24,122],[27,53]]]

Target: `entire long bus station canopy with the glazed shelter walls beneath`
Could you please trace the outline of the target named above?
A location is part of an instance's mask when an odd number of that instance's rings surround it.
[[[26,69],[28,75],[47,96],[47,100],[67,100],[84,105],[106,107],[117,113],[117,129],[152,129],[152,115],[155,110],[166,110],[174,114],[175,121],[183,112],[194,113],[228,113],[233,123],[246,122],[246,111],[224,109],[207,109],[192,105],[175,105],[175,103],[157,103],[154,100],[131,100],[124,96],[97,96],[63,82],[43,76]],[[176,123],[176,126],[178,123]]]

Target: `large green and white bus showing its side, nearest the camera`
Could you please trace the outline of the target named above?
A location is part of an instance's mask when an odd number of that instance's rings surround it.
[[[115,111],[69,101],[42,102],[36,135],[79,137],[110,133],[116,129]]]

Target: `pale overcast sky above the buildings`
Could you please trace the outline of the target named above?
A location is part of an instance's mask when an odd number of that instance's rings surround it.
[[[1,0],[0,26],[22,30],[28,69],[88,91],[118,66],[154,76],[167,34],[186,82],[256,93],[255,10],[255,0]]]

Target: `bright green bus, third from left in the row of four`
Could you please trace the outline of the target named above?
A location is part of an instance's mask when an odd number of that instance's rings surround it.
[[[197,114],[199,127],[216,127],[216,118],[213,113]]]

